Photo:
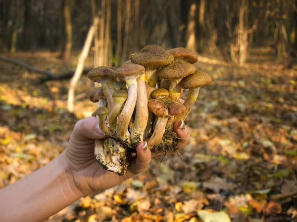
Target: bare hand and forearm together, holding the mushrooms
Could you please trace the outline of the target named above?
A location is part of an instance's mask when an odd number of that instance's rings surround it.
[[[179,150],[189,141],[187,128],[174,125]],[[98,119],[88,117],[76,123],[67,148],[54,160],[12,185],[0,189],[0,221],[42,222],[79,198],[105,190],[142,173],[151,157],[146,142],[137,146],[124,176],[105,171],[94,158],[94,142],[105,138]],[[144,149],[143,149],[144,147]]]

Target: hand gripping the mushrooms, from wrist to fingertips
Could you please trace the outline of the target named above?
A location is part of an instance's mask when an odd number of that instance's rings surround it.
[[[178,149],[184,148],[190,138],[185,127],[180,129],[181,121],[174,125],[178,138]],[[152,156],[161,152],[150,151],[146,142],[140,142],[136,148],[137,156],[130,159],[127,172],[123,176],[104,170],[94,157],[95,140],[105,138],[99,129],[98,118],[88,117],[76,123],[67,148],[62,153],[73,177],[73,182],[81,196],[104,190],[142,173],[149,165]]]

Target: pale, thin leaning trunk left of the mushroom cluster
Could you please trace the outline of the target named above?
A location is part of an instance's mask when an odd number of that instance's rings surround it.
[[[94,38],[94,31],[95,31],[95,26],[98,25],[99,19],[96,18],[94,20],[94,24],[90,27],[83,50],[81,52],[81,55],[78,59],[78,63],[77,63],[77,67],[75,70],[74,75],[72,76],[71,80],[70,80],[70,86],[69,86],[69,90],[68,90],[68,102],[67,102],[67,109],[69,112],[73,112],[74,111],[74,91],[75,91],[75,86],[78,82],[78,80],[80,79],[83,70],[84,70],[84,65],[85,65],[85,61],[88,57],[91,45],[92,45],[92,41]]]

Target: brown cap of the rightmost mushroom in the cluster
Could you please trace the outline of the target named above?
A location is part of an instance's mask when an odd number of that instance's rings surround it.
[[[184,89],[198,88],[207,85],[212,81],[209,74],[202,71],[196,71],[194,74],[188,75],[182,80],[182,87]]]

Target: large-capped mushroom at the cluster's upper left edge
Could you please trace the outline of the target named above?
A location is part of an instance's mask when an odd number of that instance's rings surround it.
[[[113,74],[114,74],[113,69],[110,69],[104,66],[99,66],[91,70],[87,74],[88,78],[90,78],[91,80],[101,83],[103,92],[106,96],[107,106],[110,110],[113,107],[113,101],[112,101],[112,93],[114,92]]]

